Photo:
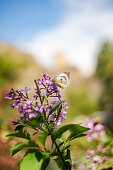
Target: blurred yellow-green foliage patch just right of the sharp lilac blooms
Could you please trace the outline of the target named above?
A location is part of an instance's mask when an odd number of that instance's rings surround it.
[[[87,88],[80,88],[79,90],[70,90],[67,92],[67,102],[69,104],[69,111],[67,119],[73,119],[80,115],[91,115],[97,110],[97,100],[93,98]]]

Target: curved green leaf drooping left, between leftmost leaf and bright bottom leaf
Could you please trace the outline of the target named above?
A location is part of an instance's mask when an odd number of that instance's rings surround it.
[[[19,142],[17,143],[11,150],[12,150],[12,156],[15,155],[17,152],[21,151],[24,148],[27,147],[39,147],[38,144],[35,141],[29,140],[26,142]]]

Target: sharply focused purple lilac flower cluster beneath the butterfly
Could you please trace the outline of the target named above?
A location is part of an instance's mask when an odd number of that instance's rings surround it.
[[[50,110],[61,101],[61,95],[58,86],[51,80],[51,76],[47,73],[41,75],[42,79],[35,80],[36,88],[32,99],[28,96],[28,92],[31,89],[27,87],[20,91],[11,88],[5,99],[13,101],[10,106],[12,108],[16,107],[18,113],[25,120],[36,117],[38,113],[41,112],[42,114],[46,114],[48,121],[51,119],[54,120],[54,126],[59,126],[61,125],[61,121],[66,119],[68,109],[67,103],[65,101],[62,102],[62,111],[59,117],[56,118],[59,108],[56,112],[49,115]]]

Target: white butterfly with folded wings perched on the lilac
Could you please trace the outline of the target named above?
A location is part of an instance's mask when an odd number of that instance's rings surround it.
[[[58,76],[56,76],[52,81],[59,87],[64,89],[70,84],[70,73],[69,72],[61,73]]]

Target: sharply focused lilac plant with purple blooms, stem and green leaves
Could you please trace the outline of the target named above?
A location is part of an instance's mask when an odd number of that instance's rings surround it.
[[[70,156],[69,142],[78,137],[85,136],[89,128],[80,124],[67,124],[61,126],[66,119],[68,105],[61,99],[58,86],[47,73],[42,74],[41,79],[34,80],[35,89],[33,97],[29,97],[31,88],[21,90],[11,88],[6,94],[6,99],[11,101],[10,106],[18,110],[19,119],[13,120],[15,131],[8,137],[24,138],[25,142],[19,142],[12,148],[12,155],[28,148],[20,162],[20,170],[45,170],[53,157],[57,166],[63,170],[71,170],[72,160]],[[34,132],[28,133],[28,128]],[[99,127],[97,127],[99,128]],[[69,131],[67,137],[62,140],[64,132]],[[32,139],[36,135],[38,143]],[[46,148],[46,138],[50,136],[51,149]],[[30,148],[30,149],[29,149]]]

